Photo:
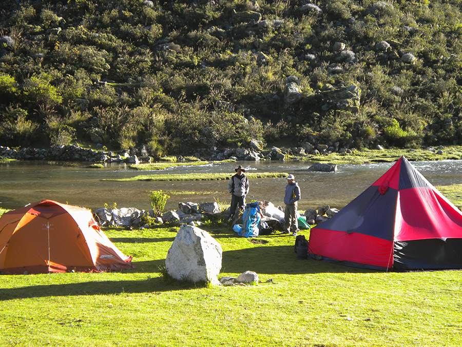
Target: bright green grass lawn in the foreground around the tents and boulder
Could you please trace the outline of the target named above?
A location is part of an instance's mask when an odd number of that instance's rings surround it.
[[[136,269],[104,274],[4,275],[0,344],[21,346],[457,346],[460,272],[384,273],[299,260],[294,237],[253,243],[208,231],[223,275],[259,274],[248,287],[164,278],[176,235],[106,234]],[[273,279],[273,283],[265,283]],[[431,285],[430,285],[431,283]]]

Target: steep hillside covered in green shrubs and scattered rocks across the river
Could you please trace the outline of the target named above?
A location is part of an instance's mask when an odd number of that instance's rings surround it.
[[[461,6],[0,0],[0,144],[460,144]]]

